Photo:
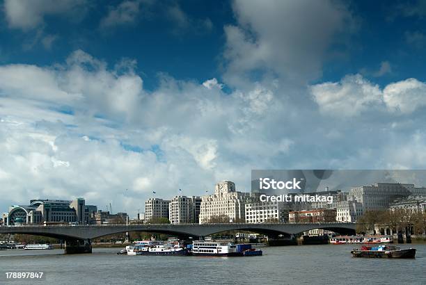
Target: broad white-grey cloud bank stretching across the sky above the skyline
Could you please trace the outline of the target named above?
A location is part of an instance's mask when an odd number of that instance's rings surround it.
[[[404,156],[407,145],[424,147],[421,113],[386,111],[407,110],[384,94],[412,96],[413,87],[392,93],[352,75],[299,90],[307,99],[294,100],[276,81],[224,92],[217,79],[161,74],[148,92],[135,64],[109,68],[77,50],[52,66],[0,65],[2,209],[30,198],[86,197],[136,215],[152,190],[203,195],[222,179],[249,190],[252,168],[409,168],[409,159],[390,159],[390,149]]]

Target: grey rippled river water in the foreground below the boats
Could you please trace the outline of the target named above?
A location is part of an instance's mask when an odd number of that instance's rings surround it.
[[[262,247],[262,257],[150,257],[63,250],[2,250],[0,274],[45,272],[10,284],[426,284],[426,245],[416,259],[356,259],[354,245]],[[0,278],[0,284],[5,277]]]

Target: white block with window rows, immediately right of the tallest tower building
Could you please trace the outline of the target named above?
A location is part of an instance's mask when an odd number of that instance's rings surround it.
[[[286,202],[248,202],[245,206],[248,223],[288,222],[289,204]]]

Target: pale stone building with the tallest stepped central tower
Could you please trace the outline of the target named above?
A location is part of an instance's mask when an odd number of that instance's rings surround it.
[[[244,222],[244,204],[249,193],[235,190],[232,181],[220,181],[214,188],[213,195],[201,197],[200,224],[205,224],[216,218],[226,218],[230,222]]]

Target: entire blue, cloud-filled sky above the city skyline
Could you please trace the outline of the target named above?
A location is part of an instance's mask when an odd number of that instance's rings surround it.
[[[426,1],[0,1],[0,211],[424,169]],[[182,191],[179,191],[182,189]]]

